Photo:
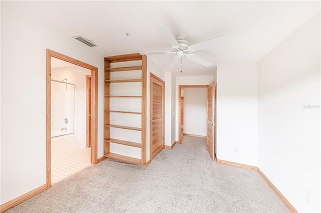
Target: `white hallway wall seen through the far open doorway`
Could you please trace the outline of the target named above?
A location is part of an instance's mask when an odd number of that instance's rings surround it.
[[[184,88],[184,133],[206,136],[206,88]]]

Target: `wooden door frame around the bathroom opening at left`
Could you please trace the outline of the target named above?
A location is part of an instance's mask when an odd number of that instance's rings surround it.
[[[98,120],[98,68],[69,56],[47,49],[46,57],[46,173],[47,189],[51,187],[51,57],[91,70],[91,148],[90,163],[97,163],[97,120]]]

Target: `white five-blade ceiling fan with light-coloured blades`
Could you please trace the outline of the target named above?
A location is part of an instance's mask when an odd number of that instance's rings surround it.
[[[214,45],[224,44],[227,42],[227,37],[224,35],[220,35],[217,37],[210,38],[208,40],[204,40],[199,43],[195,43],[193,45],[190,44],[187,40],[185,40],[185,34],[178,34],[175,39],[174,35],[171,33],[169,28],[166,26],[158,25],[156,26],[156,29],[167,39],[167,41],[172,45],[172,51],[149,51],[149,52],[139,52],[141,55],[150,55],[150,54],[174,54],[176,53],[176,56],[173,58],[170,68],[175,67],[175,65],[178,63],[180,59],[184,55],[187,56],[187,58],[194,60],[195,62],[198,62],[204,66],[211,66],[213,64],[212,61],[209,61],[203,57],[197,56],[191,52],[204,49],[207,47],[212,47]]]

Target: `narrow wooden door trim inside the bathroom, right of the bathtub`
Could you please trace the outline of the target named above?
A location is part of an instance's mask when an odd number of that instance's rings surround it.
[[[86,147],[91,146],[90,141],[90,106],[91,106],[91,74],[86,74]]]

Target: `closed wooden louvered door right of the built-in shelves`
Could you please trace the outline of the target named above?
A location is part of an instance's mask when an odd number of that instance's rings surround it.
[[[150,159],[164,147],[164,81],[150,73]]]

